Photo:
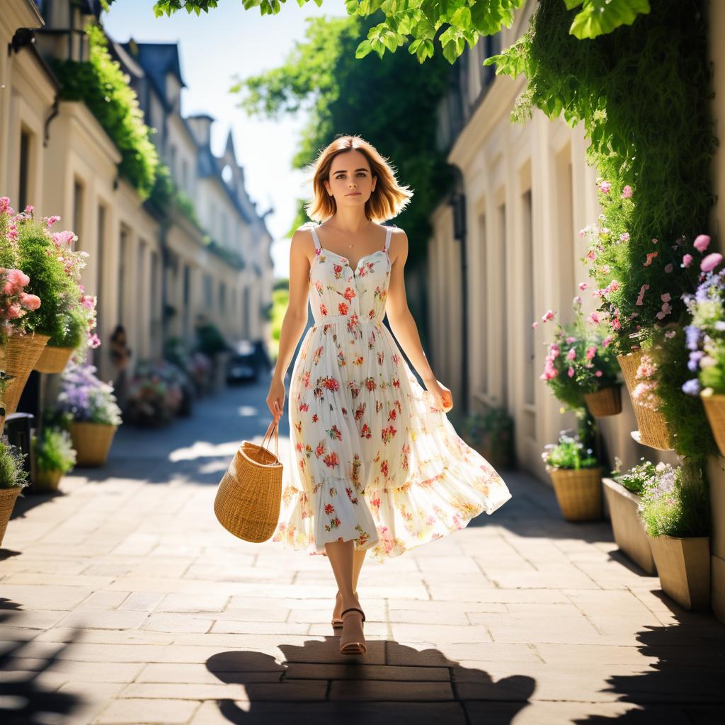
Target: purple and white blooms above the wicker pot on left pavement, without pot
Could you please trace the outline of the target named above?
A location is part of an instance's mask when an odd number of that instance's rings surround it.
[[[69,363],[61,376],[57,410],[67,419],[80,423],[121,423],[121,410],[113,394],[113,386],[96,377],[94,365]]]

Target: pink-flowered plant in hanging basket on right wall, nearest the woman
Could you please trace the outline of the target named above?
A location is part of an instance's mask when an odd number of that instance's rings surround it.
[[[587,289],[587,283],[580,283],[579,289]],[[587,405],[592,415],[617,415],[622,410],[621,384],[617,380],[616,357],[610,349],[612,337],[602,334],[596,312],[584,322],[581,304],[581,297],[574,297],[573,323],[557,324],[540,378],[569,407]],[[542,316],[542,322],[554,316],[549,310]]]

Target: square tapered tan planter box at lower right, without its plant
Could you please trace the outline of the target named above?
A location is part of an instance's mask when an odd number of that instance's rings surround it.
[[[650,537],[660,585],[685,609],[710,608],[710,537]]]

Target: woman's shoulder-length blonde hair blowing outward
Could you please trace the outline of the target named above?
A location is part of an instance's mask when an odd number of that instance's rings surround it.
[[[330,178],[332,159],[346,151],[359,151],[365,154],[370,164],[370,173],[377,177],[375,190],[365,202],[365,216],[374,222],[384,222],[397,216],[407,204],[413,191],[408,186],[401,186],[395,178],[394,167],[384,158],[372,144],[360,136],[340,136],[326,149],[320,152],[312,164],[313,198],[305,205],[307,216],[315,222],[323,222],[337,210],[333,196],[327,193],[324,181]]]

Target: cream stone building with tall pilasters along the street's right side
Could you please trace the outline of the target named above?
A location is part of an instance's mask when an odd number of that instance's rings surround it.
[[[550,483],[541,452],[564,428],[576,430],[572,413],[539,379],[551,326],[539,324],[548,309],[571,321],[577,283],[587,281],[586,252],[579,230],[596,223],[596,173],[585,161],[581,124],[550,120],[534,109],[531,120],[513,124],[510,112],[526,86],[523,77],[495,76],[481,65],[526,30],[535,3],[515,17],[513,27],[466,48],[453,72],[450,93],[439,107],[439,145],[459,178],[450,198],[431,215],[428,301],[431,358],[439,379],[467,413],[505,406],[515,423],[518,465]],[[715,68],[714,115],[722,136],[725,119],[725,4],[710,4],[711,54]],[[584,42],[584,41],[582,41]],[[718,129],[716,128],[716,133]],[[725,152],[715,159],[711,230],[725,217]],[[584,298],[586,313],[597,307]],[[629,396],[624,410],[599,418],[605,454],[629,468],[642,456],[677,463],[674,452],[637,444]],[[725,461],[709,465],[713,508],[711,539],[713,609],[725,621]]]

